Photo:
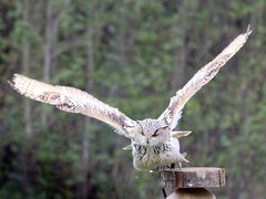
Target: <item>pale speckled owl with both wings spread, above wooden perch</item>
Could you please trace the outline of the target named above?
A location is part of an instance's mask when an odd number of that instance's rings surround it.
[[[133,166],[137,170],[153,170],[175,163],[181,165],[188,160],[185,153],[180,151],[178,138],[191,133],[175,130],[182,109],[187,101],[239,51],[250,33],[248,27],[245,33],[235,38],[213,61],[203,66],[182,90],[176,92],[157,118],[135,121],[86,92],[47,84],[20,74],[14,74],[9,84],[25,97],[54,105],[65,112],[96,118],[115,128],[116,133],[131,139],[131,145],[125,149],[132,149]]]

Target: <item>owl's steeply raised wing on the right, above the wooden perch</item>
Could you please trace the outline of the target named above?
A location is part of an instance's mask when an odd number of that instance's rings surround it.
[[[245,33],[239,34],[212,62],[203,66],[182,90],[176,92],[176,95],[171,98],[168,107],[158,118],[165,119],[170,128],[174,129],[187,101],[207,84],[218,73],[219,69],[239,51],[250,33],[248,25]]]

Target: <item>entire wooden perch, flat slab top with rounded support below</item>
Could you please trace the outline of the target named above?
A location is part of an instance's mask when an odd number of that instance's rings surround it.
[[[162,171],[164,186],[174,188],[167,199],[214,199],[206,187],[225,186],[225,170],[214,167],[186,167]]]

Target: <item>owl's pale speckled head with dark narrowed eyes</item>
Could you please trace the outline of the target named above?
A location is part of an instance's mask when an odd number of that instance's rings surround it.
[[[134,128],[135,143],[146,146],[156,146],[170,139],[170,128],[158,119],[139,121]]]

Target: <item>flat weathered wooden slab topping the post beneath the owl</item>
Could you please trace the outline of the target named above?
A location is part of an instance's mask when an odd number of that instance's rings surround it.
[[[165,187],[201,188],[225,186],[225,170],[215,167],[186,167],[162,171]]]

